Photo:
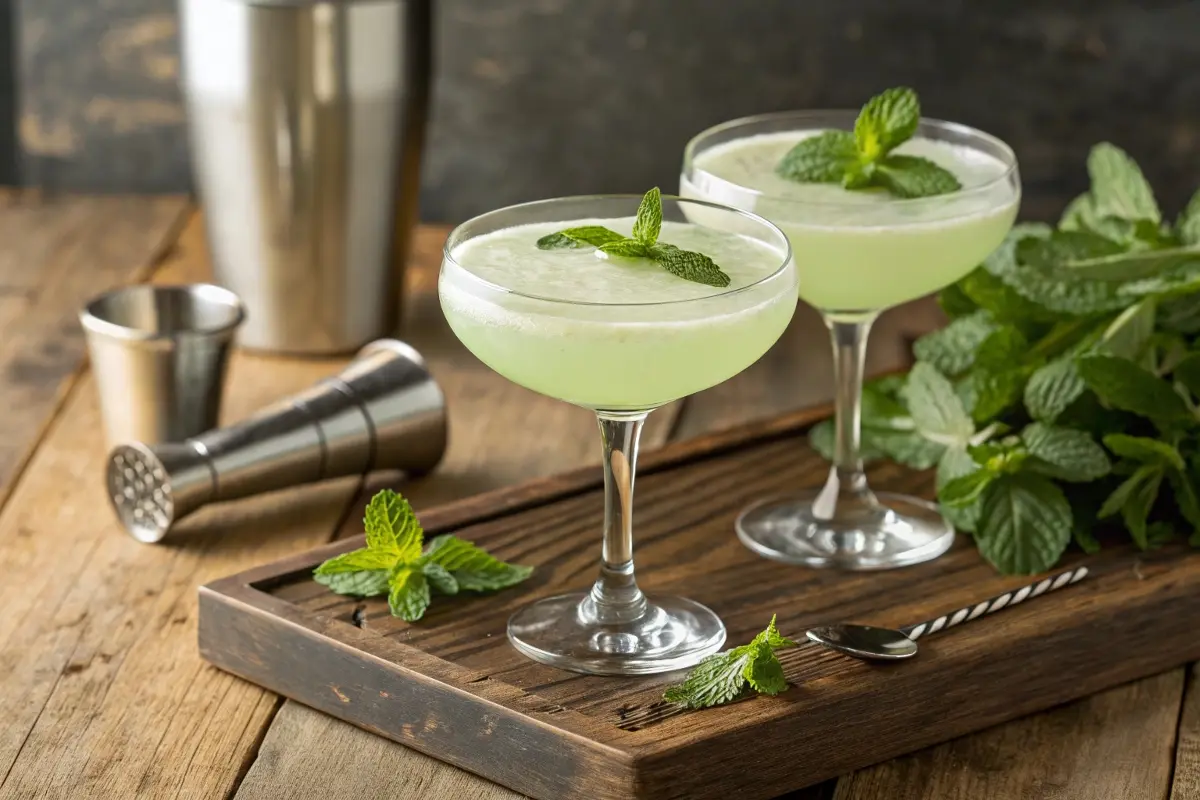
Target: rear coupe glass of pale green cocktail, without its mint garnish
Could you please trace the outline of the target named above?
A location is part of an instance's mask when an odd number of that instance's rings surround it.
[[[856,112],[790,112],[733,120],[694,138],[680,194],[760,213],[787,234],[800,299],[833,338],[834,464],[820,489],[768,499],[738,518],[742,541],[791,564],[880,570],[946,552],[954,528],[934,504],[872,493],[859,457],[863,356],[881,311],[942,289],[1003,240],[1020,204],[1013,151],[980,131],[922,119],[895,154],[928,158],[961,184],[914,199],[881,190],[785,179],[775,167],[799,140],[853,131]]]

